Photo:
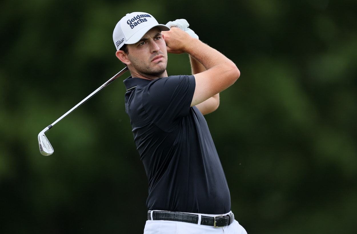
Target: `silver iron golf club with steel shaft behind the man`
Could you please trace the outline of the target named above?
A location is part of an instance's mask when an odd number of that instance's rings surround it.
[[[62,115],[61,117],[59,117],[55,122],[51,123],[51,125],[47,126],[44,130],[42,130],[39,135],[38,135],[38,140],[39,140],[39,147],[40,147],[40,153],[42,155],[45,156],[49,156],[54,152],[54,149],[51,145],[51,143],[49,142],[49,140],[47,139],[45,132],[47,132],[48,130],[50,130],[51,127],[53,127],[56,123],[58,123],[59,121],[61,121],[64,117],[66,117],[68,114],[70,114],[72,111],[74,111],[75,109],[77,109],[81,104],[85,103],[88,99],[90,99],[91,97],[93,97],[95,94],[97,94],[99,91],[101,91],[103,88],[105,88],[108,84],[110,84],[111,82],[113,82],[116,78],[120,77],[122,74],[124,74],[126,71],[128,70],[127,67],[125,67],[124,69],[122,69],[120,72],[118,72],[116,75],[114,75],[114,77],[110,78],[107,82],[105,82],[104,84],[102,84],[102,86],[100,86],[99,88],[97,88],[94,92],[92,92],[91,94],[89,94],[86,98],[84,98],[81,102],[79,102],[78,104],[76,104],[74,107],[72,107],[72,109],[70,109],[69,111],[67,111],[64,115]]]

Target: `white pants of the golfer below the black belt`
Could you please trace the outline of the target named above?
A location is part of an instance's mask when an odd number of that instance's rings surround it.
[[[237,220],[222,228],[181,221],[147,220],[144,234],[247,234],[247,231]]]

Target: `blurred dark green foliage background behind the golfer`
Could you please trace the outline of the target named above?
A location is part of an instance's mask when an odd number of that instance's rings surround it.
[[[206,116],[248,233],[357,230],[355,0],[3,0],[0,233],[142,233],[147,181],[120,79],[37,134],[124,66],[126,13],[185,18],[241,70]],[[187,55],[169,55],[187,74]],[[124,78],[129,76],[125,74]]]

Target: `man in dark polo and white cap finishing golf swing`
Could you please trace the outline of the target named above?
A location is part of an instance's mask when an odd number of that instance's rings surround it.
[[[144,234],[246,233],[231,212],[225,174],[203,117],[217,109],[219,93],[240,72],[193,38],[183,21],[169,23],[186,31],[134,12],[113,32],[116,57],[131,73],[124,81],[125,108],[149,181]],[[168,77],[167,52],[188,53],[193,75]]]

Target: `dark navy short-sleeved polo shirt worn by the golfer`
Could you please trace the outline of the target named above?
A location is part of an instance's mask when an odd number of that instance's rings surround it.
[[[149,181],[148,210],[224,214],[225,174],[205,118],[190,107],[193,75],[124,80],[125,109]]]

